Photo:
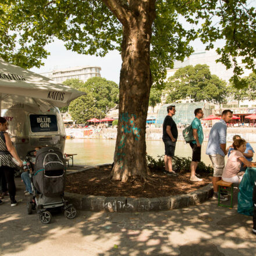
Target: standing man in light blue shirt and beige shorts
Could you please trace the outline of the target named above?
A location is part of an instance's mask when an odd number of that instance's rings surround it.
[[[216,182],[221,180],[223,169],[225,166],[226,151],[226,136],[227,136],[227,123],[232,121],[233,112],[230,109],[226,109],[222,112],[221,120],[212,126],[209,134],[209,140],[207,144],[206,154],[212,161],[214,168],[214,176],[212,177],[212,184],[214,185],[214,199],[218,199],[218,185]],[[227,198],[220,195],[222,201],[226,201]]]

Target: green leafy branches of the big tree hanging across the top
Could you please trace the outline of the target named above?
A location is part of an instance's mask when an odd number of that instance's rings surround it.
[[[138,0],[2,0],[0,3],[0,56],[16,65],[43,65],[45,45],[55,38],[79,54],[104,56],[121,51],[122,27],[134,17]],[[243,87],[239,62],[255,71],[255,8],[246,0],[147,0],[155,3],[151,36],[151,73],[160,86],[166,67],[193,53],[197,38],[206,49],[217,40],[219,61],[234,69],[233,83]],[[116,8],[111,8],[116,6]],[[110,9],[112,10],[110,10]],[[125,14],[124,14],[125,13]],[[135,15],[136,16],[136,15]]]

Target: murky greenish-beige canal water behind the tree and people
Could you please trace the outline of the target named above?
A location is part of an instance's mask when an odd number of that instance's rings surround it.
[[[116,140],[104,139],[88,139],[74,138],[66,140],[65,153],[77,154],[74,156],[74,164],[77,165],[99,165],[102,163],[112,163],[115,151]],[[161,140],[146,140],[147,153],[151,157],[158,158],[158,155],[163,155],[165,147]],[[230,143],[231,144],[231,143]],[[256,151],[256,143],[250,143]],[[229,145],[229,144],[227,144]],[[202,157],[206,165],[211,164],[208,155],[205,154],[207,142],[202,144]],[[177,141],[175,155],[178,157],[191,157],[192,150],[189,144],[184,144],[183,141]],[[253,161],[256,161],[254,155]]]

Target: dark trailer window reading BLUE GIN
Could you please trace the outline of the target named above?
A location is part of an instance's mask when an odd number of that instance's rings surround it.
[[[29,118],[33,133],[58,131],[56,115],[30,115]]]

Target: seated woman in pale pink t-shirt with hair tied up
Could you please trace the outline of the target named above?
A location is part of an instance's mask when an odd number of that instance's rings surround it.
[[[222,180],[224,182],[239,183],[243,176],[237,176],[240,172],[241,164],[247,167],[252,167],[253,163],[249,162],[243,155],[246,150],[246,141],[243,138],[238,138],[233,142],[234,150],[230,152],[227,158],[227,164],[223,170]]]

